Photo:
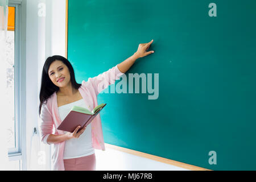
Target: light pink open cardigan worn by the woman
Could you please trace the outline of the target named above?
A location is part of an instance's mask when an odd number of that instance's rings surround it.
[[[98,94],[107,88],[109,85],[114,84],[115,80],[119,80],[124,73],[119,71],[117,65],[109,69],[108,71],[101,73],[100,75],[88,78],[88,81],[82,81],[82,85],[79,88],[79,92],[84,99],[86,105],[90,109],[93,109],[98,105],[97,96]],[[53,134],[53,126],[55,127],[56,135],[64,134],[63,131],[57,130],[57,127],[61,123],[57,108],[57,95],[54,92],[47,100],[46,105],[42,105],[40,113],[40,138],[43,143],[47,143],[47,137]],[[64,170],[63,162],[63,151],[65,141],[53,144],[52,154],[52,169],[53,170]],[[100,113],[94,118],[92,122],[92,146],[96,149],[105,150],[105,143],[102,133]]]

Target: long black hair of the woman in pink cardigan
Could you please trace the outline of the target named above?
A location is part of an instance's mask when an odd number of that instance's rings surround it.
[[[41,108],[42,105],[47,104],[47,99],[57,90],[59,90],[59,86],[56,86],[53,84],[53,82],[50,80],[48,71],[49,71],[49,66],[52,64],[53,61],[62,61],[65,65],[67,65],[69,72],[70,72],[70,79],[71,79],[71,84],[73,88],[79,89],[81,84],[78,84],[75,79],[75,72],[74,69],[71,65],[71,63],[65,59],[63,56],[55,55],[55,56],[50,56],[46,59],[46,62],[44,63],[43,71],[42,71],[42,80],[41,80],[41,89],[40,89],[40,105],[39,105],[39,117],[41,113]]]

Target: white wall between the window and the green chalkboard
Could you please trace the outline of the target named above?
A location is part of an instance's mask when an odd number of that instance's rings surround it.
[[[40,5],[46,5],[45,16],[39,15],[43,7]],[[49,170],[51,146],[42,144],[34,150],[32,143],[39,139],[39,135],[33,136],[34,127],[38,130],[40,122],[38,106],[44,61],[51,55],[65,56],[65,1],[27,0],[26,16],[26,169]],[[34,156],[38,158],[30,158],[31,152],[36,152]],[[38,163],[40,157],[46,160]]]

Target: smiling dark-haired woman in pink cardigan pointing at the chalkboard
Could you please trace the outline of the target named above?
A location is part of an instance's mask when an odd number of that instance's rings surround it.
[[[43,143],[53,144],[53,170],[96,170],[94,149],[105,150],[100,114],[79,132],[80,126],[73,133],[57,130],[57,127],[73,105],[89,110],[96,107],[97,95],[102,90],[114,84],[139,57],[154,53],[147,52],[152,42],[139,44],[133,56],[82,84],[77,84],[72,65],[65,57],[47,58],[40,89],[40,137]]]

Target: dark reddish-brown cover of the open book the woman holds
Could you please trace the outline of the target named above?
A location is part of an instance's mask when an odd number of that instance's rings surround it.
[[[106,104],[105,104],[106,105]],[[82,127],[88,126],[93,119],[96,117],[98,113],[103,109],[102,106],[100,110],[97,111],[97,113],[92,114],[85,114],[85,113],[80,113],[77,111],[71,110],[67,117],[63,119],[63,121],[60,123],[60,126],[57,127],[58,130],[63,130],[63,131],[69,131],[73,133],[73,131],[76,129],[77,126],[81,126],[81,128],[78,130],[80,131]]]

